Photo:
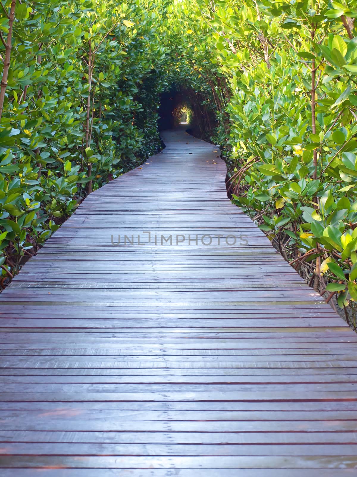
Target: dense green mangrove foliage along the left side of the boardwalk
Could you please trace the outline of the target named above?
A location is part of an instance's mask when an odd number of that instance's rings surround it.
[[[154,28],[160,10],[150,1],[2,1],[2,6],[4,279],[82,197],[158,148],[164,48]]]

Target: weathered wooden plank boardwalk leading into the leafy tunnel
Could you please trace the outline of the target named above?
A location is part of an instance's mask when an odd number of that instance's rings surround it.
[[[0,475],[356,475],[356,334],[164,139],[0,295]]]

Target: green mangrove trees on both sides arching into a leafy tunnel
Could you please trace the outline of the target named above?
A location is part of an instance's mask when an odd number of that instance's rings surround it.
[[[220,145],[234,203],[315,290],[354,310],[354,1],[2,7],[2,288],[83,197],[158,152],[159,130],[184,118]]]

